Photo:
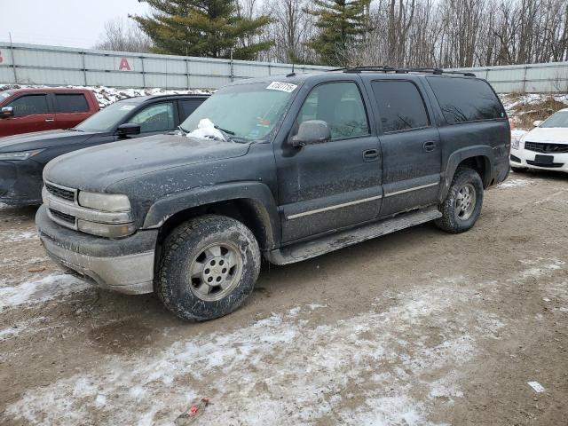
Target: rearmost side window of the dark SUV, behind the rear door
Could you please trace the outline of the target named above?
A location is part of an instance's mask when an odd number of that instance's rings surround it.
[[[478,122],[505,117],[489,83],[469,77],[427,77],[446,122]]]

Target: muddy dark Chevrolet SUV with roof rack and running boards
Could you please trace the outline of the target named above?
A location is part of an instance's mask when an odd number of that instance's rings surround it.
[[[36,223],[47,252],[85,278],[214,319],[250,295],[262,257],[291,264],[429,221],[469,230],[485,188],[509,173],[509,145],[501,102],[470,74],[246,80],[177,134],[50,162]]]

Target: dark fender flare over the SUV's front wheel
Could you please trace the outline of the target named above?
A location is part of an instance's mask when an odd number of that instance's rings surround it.
[[[144,219],[143,229],[160,228],[170,217],[187,209],[215,202],[243,200],[252,203],[266,234],[266,245],[280,241],[280,213],[272,191],[261,182],[243,181],[200,186],[181,193],[172,193],[154,201]]]

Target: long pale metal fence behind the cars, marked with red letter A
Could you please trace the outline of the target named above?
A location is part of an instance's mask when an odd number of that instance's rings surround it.
[[[0,83],[217,89],[234,80],[285,75],[292,69],[304,73],[329,68],[0,42]],[[568,62],[459,70],[487,79],[501,93],[568,91]]]

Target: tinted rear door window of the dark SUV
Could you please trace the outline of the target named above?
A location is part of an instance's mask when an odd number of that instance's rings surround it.
[[[371,83],[379,108],[383,132],[430,126],[426,106],[411,82],[383,80]]]

